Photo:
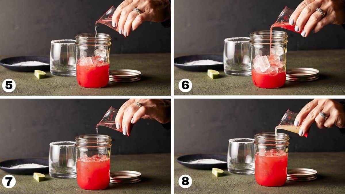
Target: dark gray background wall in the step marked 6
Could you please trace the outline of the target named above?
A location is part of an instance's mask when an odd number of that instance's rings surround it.
[[[249,37],[269,30],[285,6],[296,9],[302,0],[175,0],[175,54],[223,52],[224,39]],[[345,30],[328,25],[303,38],[288,32],[288,50],[345,48]]]

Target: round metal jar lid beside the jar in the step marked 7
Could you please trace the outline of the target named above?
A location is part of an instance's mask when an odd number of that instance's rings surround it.
[[[131,184],[141,181],[141,173],[137,171],[110,172],[110,183]]]

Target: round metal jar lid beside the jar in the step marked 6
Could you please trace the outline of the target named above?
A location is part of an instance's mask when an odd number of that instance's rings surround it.
[[[294,68],[286,70],[287,81],[314,81],[319,78],[320,71],[314,68]]]

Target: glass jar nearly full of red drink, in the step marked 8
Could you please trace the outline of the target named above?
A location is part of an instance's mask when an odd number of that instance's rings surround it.
[[[255,181],[262,186],[282,186],[287,177],[289,136],[285,133],[254,135]]]

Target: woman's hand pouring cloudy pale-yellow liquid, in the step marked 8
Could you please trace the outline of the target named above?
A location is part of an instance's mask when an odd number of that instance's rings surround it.
[[[328,116],[327,119],[319,115],[321,111]],[[334,125],[345,128],[344,105],[332,99],[314,99],[302,108],[295,119],[295,126],[300,125],[298,134],[303,136],[314,122],[320,129]]]

